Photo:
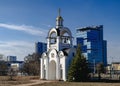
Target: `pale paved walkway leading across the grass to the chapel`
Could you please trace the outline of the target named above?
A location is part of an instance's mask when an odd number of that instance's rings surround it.
[[[47,80],[31,80],[31,82],[32,83],[19,84],[19,85],[13,85],[13,86],[31,86],[31,85],[43,84],[43,83],[52,82],[52,81],[47,81]]]

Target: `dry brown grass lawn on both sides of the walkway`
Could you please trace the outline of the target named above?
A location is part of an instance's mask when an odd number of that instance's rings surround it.
[[[13,81],[9,80],[8,76],[0,76],[0,86],[13,86],[20,84],[33,83],[31,80],[39,80],[37,76],[16,76]],[[63,81],[54,81],[54,82],[43,82],[40,84],[35,84],[31,86],[120,86],[120,81],[112,83],[105,82],[63,82]]]

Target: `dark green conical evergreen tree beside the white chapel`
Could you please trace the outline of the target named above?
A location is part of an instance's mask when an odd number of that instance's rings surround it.
[[[76,55],[68,70],[68,81],[86,81],[88,80],[88,73],[88,63],[86,58],[82,55],[80,45],[78,45]]]

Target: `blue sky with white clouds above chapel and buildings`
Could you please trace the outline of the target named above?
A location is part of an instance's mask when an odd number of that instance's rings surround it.
[[[46,42],[55,27],[59,8],[73,37],[76,28],[103,25],[108,62],[120,61],[120,0],[0,0],[0,54],[24,60],[35,52],[35,42]]]

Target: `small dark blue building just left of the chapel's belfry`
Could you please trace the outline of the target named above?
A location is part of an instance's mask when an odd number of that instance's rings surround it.
[[[43,42],[36,42],[35,43],[35,53],[42,54],[47,50],[47,44]]]

